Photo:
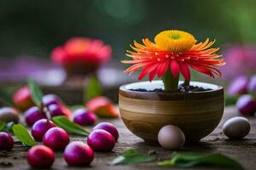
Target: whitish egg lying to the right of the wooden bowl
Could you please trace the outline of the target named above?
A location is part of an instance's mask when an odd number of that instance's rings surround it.
[[[230,139],[242,139],[250,130],[250,122],[241,116],[232,117],[223,125],[223,132]]]

